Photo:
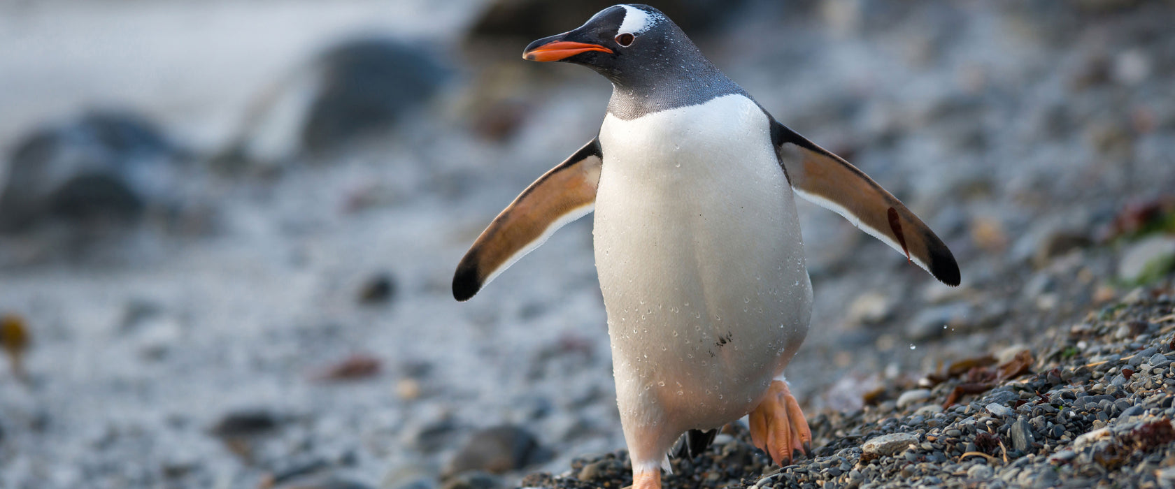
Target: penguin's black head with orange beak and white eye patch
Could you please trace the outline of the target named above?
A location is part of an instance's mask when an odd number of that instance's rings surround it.
[[[573,30],[531,42],[522,57],[583,64],[624,84],[683,48],[697,49],[660,11],[647,5],[616,5]]]

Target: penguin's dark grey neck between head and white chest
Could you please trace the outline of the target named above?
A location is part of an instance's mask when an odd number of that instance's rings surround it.
[[[612,82],[607,113],[631,121],[662,110],[706,103],[723,95],[746,94],[696,47],[690,50],[692,53],[686,56],[657,56],[653,62],[604,74]]]

